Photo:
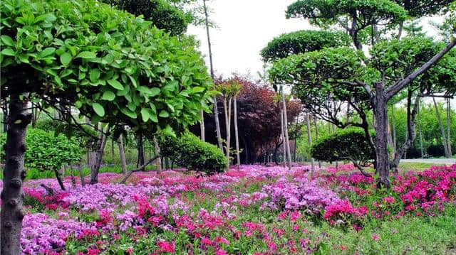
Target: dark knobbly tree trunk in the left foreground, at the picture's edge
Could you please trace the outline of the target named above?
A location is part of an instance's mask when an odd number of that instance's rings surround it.
[[[26,112],[27,103],[19,94],[10,97],[7,118],[5,168],[3,190],[1,191],[1,249],[0,254],[21,254],[21,229],[24,219],[24,190],[26,177],[24,153],[26,152],[26,130],[31,114]]]

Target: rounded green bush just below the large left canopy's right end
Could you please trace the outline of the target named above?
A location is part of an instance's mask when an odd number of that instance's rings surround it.
[[[184,134],[179,139],[162,139],[160,153],[180,166],[209,175],[223,172],[227,166],[227,158],[217,146],[201,141],[193,134]]]

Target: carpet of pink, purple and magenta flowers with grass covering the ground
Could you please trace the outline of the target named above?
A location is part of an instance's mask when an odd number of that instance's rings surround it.
[[[352,165],[122,175],[66,191],[25,183],[23,254],[450,254],[456,165],[401,170],[392,188]],[[53,188],[53,193],[41,184]],[[453,227],[451,227],[453,225]]]

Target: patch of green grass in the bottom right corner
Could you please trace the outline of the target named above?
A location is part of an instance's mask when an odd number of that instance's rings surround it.
[[[329,235],[325,254],[455,254],[455,217],[456,207],[449,206],[436,217],[408,215],[393,221],[371,220],[359,232],[344,232],[326,222],[314,231]],[[373,239],[374,234],[378,240]]]

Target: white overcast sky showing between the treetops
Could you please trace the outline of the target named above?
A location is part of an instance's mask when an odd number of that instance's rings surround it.
[[[304,19],[285,18],[286,6],[294,1],[296,0],[207,1],[212,9],[210,19],[218,26],[209,31],[216,73],[227,76],[232,72],[250,72],[257,77],[257,72],[261,72],[263,67],[259,52],[272,38],[291,31],[316,29]],[[435,35],[432,28],[426,26],[428,20],[429,18],[422,22],[425,31]],[[187,33],[199,38],[200,50],[209,66],[205,28],[190,26]]]

